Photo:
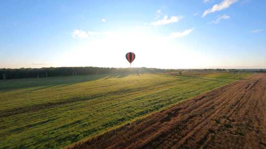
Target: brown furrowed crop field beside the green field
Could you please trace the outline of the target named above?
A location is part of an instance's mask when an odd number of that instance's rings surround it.
[[[240,80],[75,149],[266,149],[266,74]]]

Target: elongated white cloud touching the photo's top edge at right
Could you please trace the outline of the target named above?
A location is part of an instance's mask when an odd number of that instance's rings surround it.
[[[205,10],[201,17],[205,17],[209,13],[214,13],[216,11],[221,11],[223,9],[229,8],[233,3],[237,1],[238,0],[223,0],[221,3],[215,4],[212,8]]]

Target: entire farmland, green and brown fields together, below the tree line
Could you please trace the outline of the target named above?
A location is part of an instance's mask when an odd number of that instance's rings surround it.
[[[1,80],[0,148],[265,147],[266,74],[165,71]]]

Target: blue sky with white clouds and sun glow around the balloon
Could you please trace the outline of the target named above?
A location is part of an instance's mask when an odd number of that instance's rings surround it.
[[[266,0],[4,0],[0,68],[266,68]]]

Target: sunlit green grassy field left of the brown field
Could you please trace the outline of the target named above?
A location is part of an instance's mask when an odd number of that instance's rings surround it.
[[[230,73],[1,80],[0,148],[62,148],[236,80]]]

